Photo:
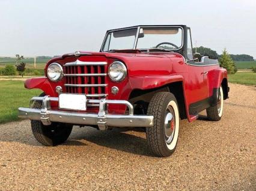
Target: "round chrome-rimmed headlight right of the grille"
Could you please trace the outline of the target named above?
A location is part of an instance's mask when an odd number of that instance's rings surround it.
[[[115,61],[109,65],[108,75],[112,81],[122,81],[126,77],[127,69],[123,62]]]

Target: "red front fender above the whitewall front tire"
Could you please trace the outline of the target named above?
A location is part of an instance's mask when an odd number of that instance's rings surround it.
[[[146,75],[133,76],[129,78],[132,89],[153,89],[156,87],[165,86],[166,84],[183,81],[182,75]]]

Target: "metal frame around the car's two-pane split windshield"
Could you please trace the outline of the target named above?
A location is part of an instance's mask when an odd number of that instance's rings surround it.
[[[135,40],[134,40],[134,43],[133,43],[133,48],[130,48],[132,50],[135,50],[136,47],[137,47],[137,44],[138,44],[138,35],[139,35],[139,31],[141,28],[180,28],[181,29],[181,46],[177,49],[166,49],[166,50],[172,50],[172,51],[178,51],[180,50],[181,48],[183,48],[184,46],[184,29],[182,26],[178,26],[178,25],[150,25],[150,26],[131,26],[131,27],[127,27],[127,28],[121,28],[121,29],[112,29],[112,30],[109,30],[106,32],[106,35],[105,35],[105,38],[103,40],[103,43],[102,43],[102,47],[100,47],[100,52],[108,52],[108,51],[103,51],[103,48],[106,44],[106,40],[107,40],[107,37],[109,35],[109,33],[111,32],[115,32],[115,31],[124,31],[124,30],[127,30],[127,29],[136,29],[137,28],[137,31],[136,31],[136,37],[135,37]],[[120,49],[121,50],[121,49]],[[148,50],[148,48],[139,48],[139,50]]]

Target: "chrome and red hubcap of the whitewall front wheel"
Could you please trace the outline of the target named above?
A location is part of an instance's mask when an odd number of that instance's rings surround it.
[[[174,137],[175,119],[173,113],[172,108],[168,108],[165,115],[165,140],[167,144],[171,143]]]

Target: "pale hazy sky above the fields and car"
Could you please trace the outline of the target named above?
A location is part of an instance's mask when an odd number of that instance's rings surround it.
[[[256,59],[255,0],[0,0],[0,56],[99,51],[106,30],[187,25],[193,46]]]

